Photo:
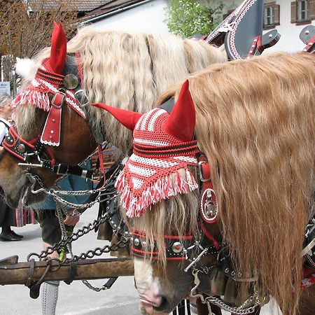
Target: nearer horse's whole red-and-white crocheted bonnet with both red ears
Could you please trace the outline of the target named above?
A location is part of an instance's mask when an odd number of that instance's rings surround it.
[[[106,109],[125,127],[133,130],[134,152],[116,181],[120,202],[127,216],[141,216],[151,205],[198,188],[188,165],[197,165],[195,105],[183,84],[171,113],[162,108],[140,114],[106,104]],[[179,173],[185,169],[185,175]]]

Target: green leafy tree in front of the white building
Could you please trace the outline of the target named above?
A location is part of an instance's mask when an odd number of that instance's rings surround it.
[[[169,0],[167,26],[169,31],[183,37],[207,35],[221,22],[223,3],[210,6],[197,0]]]

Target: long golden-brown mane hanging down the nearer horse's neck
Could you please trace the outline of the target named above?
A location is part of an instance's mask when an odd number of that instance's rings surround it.
[[[283,314],[295,314],[313,204],[315,56],[278,53],[217,64],[189,82],[223,237],[243,274],[258,275],[259,292],[274,296]],[[157,237],[165,208],[181,211],[179,200],[172,202],[160,202],[135,223]],[[167,224],[172,228],[182,217],[168,214]]]

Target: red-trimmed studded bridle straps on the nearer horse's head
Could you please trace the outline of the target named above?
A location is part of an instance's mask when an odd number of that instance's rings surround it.
[[[169,99],[160,106],[169,113],[174,106],[174,99]],[[160,158],[164,155],[182,155],[183,153],[196,154],[199,163],[198,169],[200,174],[200,216],[198,218],[198,225],[205,238],[201,241],[195,238],[193,233],[183,235],[181,237],[175,235],[164,235],[165,239],[165,257],[166,260],[187,260],[188,251],[193,248],[204,250],[203,255],[213,255],[221,251],[221,243],[215,239],[207,225],[217,221],[218,209],[216,205],[216,195],[211,183],[210,166],[204,155],[200,154],[197,147],[197,140],[187,142],[181,146],[168,146],[152,148],[143,145],[134,145],[134,152],[146,158]],[[215,207],[214,207],[215,206]],[[215,208],[215,209],[214,209]],[[158,250],[146,251],[146,232],[139,229],[132,229],[132,239],[130,240],[130,248],[136,257],[149,257],[153,260],[161,259],[162,255]],[[207,249],[207,250],[206,250]],[[202,257],[202,256],[201,256]]]

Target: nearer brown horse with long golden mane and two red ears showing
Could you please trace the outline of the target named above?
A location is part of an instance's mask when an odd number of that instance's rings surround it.
[[[172,111],[97,104],[134,130],[134,153],[116,185],[132,218],[135,279],[148,313],[172,311],[193,286],[227,295],[227,304],[248,295],[248,305],[263,304],[271,295],[283,314],[297,313],[304,229],[314,216],[314,93],[315,56],[278,53],[190,76],[189,90],[186,81],[160,98],[174,97]],[[211,178],[205,200],[200,176]],[[233,300],[218,281],[222,265],[232,270],[226,288],[240,293]]]

